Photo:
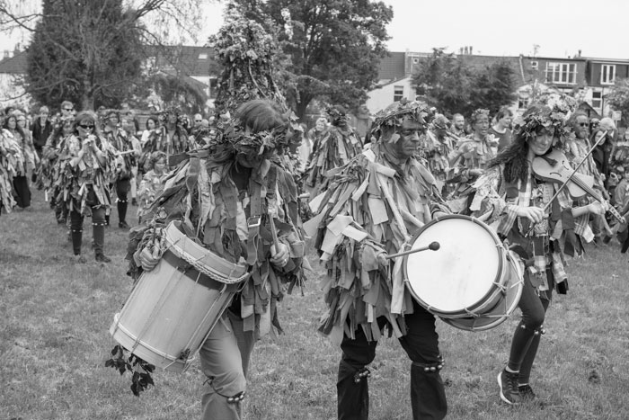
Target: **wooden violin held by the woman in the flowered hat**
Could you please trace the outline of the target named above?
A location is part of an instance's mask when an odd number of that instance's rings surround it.
[[[551,183],[565,183],[565,188],[572,199],[577,200],[588,194],[596,201],[605,203],[605,199],[594,189],[594,177],[574,172],[570,161],[560,150],[552,149],[544,156],[536,156],[531,163],[533,174]],[[608,211],[620,223],[626,223],[625,218],[616,209],[607,206]]]

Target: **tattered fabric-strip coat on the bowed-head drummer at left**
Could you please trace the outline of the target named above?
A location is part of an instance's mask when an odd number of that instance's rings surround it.
[[[229,262],[248,264],[251,276],[232,308],[240,308],[245,331],[261,336],[275,326],[281,332],[277,303],[285,291],[290,293],[305,280],[305,246],[297,230],[297,191],[291,175],[268,159],[249,174],[246,168],[235,167],[234,159],[212,160],[207,149],[188,155],[169,175],[164,192],[150,209],[155,222],[182,220],[187,237]],[[235,177],[243,180],[244,189],[237,187]],[[290,250],[290,261],[283,268],[269,262],[270,218],[279,241]],[[142,237],[150,237],[151,231],[132,232],[129,253],[141,249]],[[132,260],[131,272],[141,273]]]

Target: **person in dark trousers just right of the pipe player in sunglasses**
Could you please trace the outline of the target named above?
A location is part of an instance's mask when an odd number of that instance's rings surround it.
[[[128,192],[131,190],[133,180],[132,170],[140,156],[140,143],[135,136],[120,127],[120,112],[115,110],[105,112],[103,132],[105,139],[116,151],[116,171],[111,179],[111,186],[116,191],[118,227],[128,229]],[[109,217],[107,223],[109,224]]]

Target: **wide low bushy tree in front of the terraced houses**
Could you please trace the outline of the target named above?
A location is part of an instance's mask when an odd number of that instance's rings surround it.
[[[507,61],[476,69],[443,49],[422,58],[412,76],[417,94],[440,112],[469,115],[477,108],[497,112],[516,99],[516,72]]]

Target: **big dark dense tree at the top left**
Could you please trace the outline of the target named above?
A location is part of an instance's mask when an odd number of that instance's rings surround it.
[[[134,14],[121,0],[45,0],[28,49],[26,90],[40,103],[115,106],[140,76]]]

